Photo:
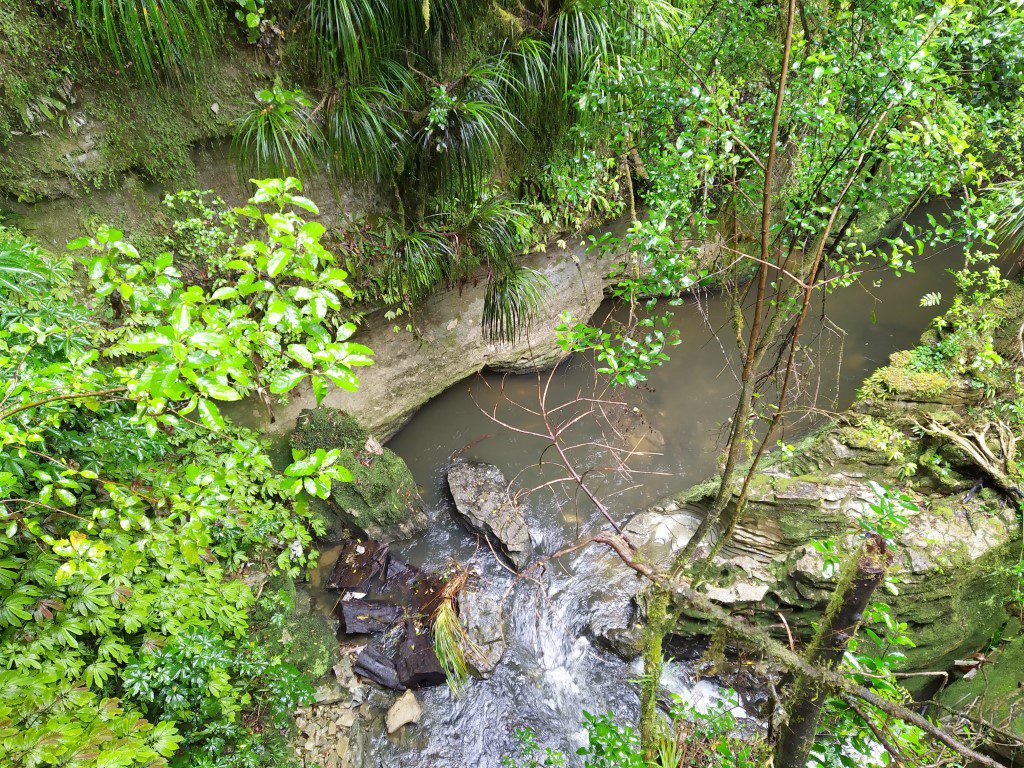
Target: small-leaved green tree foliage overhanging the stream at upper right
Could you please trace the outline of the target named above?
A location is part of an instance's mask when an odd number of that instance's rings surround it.
[[[649,44],[628,49],[577,89],[581,141],[606,142],[611,156],[630,159],[648,208],[624,236],[595,244],[629,254],[624,299],[676,297],[708,278],[715,257],[728,264],[716,261],[717,282],[750,279],[771,150],[769,257],[790,273],[772,268],[768,276],[766,314],[777,317],[765,325],[773,331],[784,332],[798,313],[799,281],[818,249],[822,268],[813,279],[829,278],[816,286],[821,291],[848,285],[868,263],[897,275],[913,268],[922,244],[912,231],[869,247],[876,217],[884,222],[926,196],[966,188],[961,215],[975,221],[989,174],[982,158],[1013,116],[1001,92],[987,97],[977,87],[962,56],[971,51],[984,69],[989,28],[999,29],[990,52],[1009,68],[999,88],[1019,93],[1019,54],[1009,43],[1024,30],[1019,8],[987,0],[927,8],[809,3],[799,15],[774,147],[784,6],[698,2],[680,9],[674,27],[636,19],[649,30]],[[951,238],[952,227],[943,242]],[[701,250],[709,241],[721,249]],[[624,346],[639,341],[632,328],[622,335]],[[663,345],[651,337],[654,352]]]

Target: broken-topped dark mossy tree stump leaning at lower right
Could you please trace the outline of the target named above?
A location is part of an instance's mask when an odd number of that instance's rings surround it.
[[[857,632],[864,609],[885,579],[890,559],[885,542],[871,537],[847,563],[818,631],[804,653],[808,664],[833,669],[843,658],[847,641]],[[827,697],[819,681],[797,676],[786,706],[788,718],[775,744],[775,768],[805,768]]]

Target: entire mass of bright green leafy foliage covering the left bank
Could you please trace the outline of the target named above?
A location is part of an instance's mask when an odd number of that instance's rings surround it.
[[[308,499],[349,475],[324,450],[276,472],[216,403],[354,387],[350,366],[370,361],[327,318],[345,273],[292,212],[315,211],[298,190],[260,182],[222,238],[176,228],[205,285],[110,227],[76,242],[96,296],[115,298],[105,328],[45,275],[0,290],[17,317],[0,330],[5,765],[158,765],[179,739],[182,765],[281,764],[267,739],[309,688],[283,649],[245,639],[254,598],[236,577],[308,564]],[[272,348],[288,356],[264,360]]]

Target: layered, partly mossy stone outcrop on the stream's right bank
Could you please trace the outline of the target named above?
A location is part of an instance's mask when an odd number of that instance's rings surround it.
[[[794,450],[765,460],[703,588],[715,600],[766,624],[777,625],[781,612],[798,635],[806,634],[835,589],[835,574],[824,574],[823,555],[810,543],[833,540],[840,555],[852,551],[859,521],[877,503],[871,483],[898,489],[918,511],[907,515],[895,548],[891,572],[898,594],[880,598],[894,617],[907,623],[916,644],[906,649],[906,667],[946,670],[983,648],[1010,618],[1008,600],[999,596],[1011,594],[1005,566],[1015,561],[1019,519],[1004,494],[985,486],[984,474],[967,455],[916,426],[938,420],[970,428],[965,415],[974,413],[969,404],[978,401],[978,388],[935,374],[918,381],[921,374],[906,368],[907,359],[906,353],[893,355],[848,413]],[[707,507],[717,487],[712,478],[641,513],[630,528],[671,527],[677,510]],[[727,509],[726,519],[729,515]],[[649,535],[641,537],[642,556],[671,561],[690,532],[672,537],[659,547],[652,547]],[[636,606],[642,613],[643,593],[633,601]],[[596,616],[592,629],[620,650],[635,652],[637,628],[622,613]],[[707,628],[693,617],[677,630],[685,635]],[[915,689],[925,679],[908,684]]]

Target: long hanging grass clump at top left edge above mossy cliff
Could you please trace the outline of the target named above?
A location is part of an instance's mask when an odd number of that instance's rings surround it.
[[[86,45],[144,83],[195,77],[213,56],[207,0],[71,0]]]

